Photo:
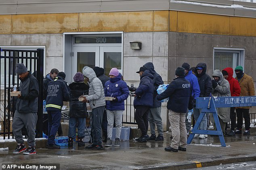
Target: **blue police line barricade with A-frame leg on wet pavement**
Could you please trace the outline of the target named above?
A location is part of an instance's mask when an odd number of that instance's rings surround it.
[[[256,106],[256,96],[238,96],[238,97],[199,97],[196,100],[196,108],[200,109],[201,113],[193,127],[187,144],[190,144],[195,134],[218,135],[221,146],[226,147],[223,133],[218,119],[216,108],[220,107],[251,107]],[[198,130],[198,127],[206,113],[212,113],[216,124],[216,131]]]

